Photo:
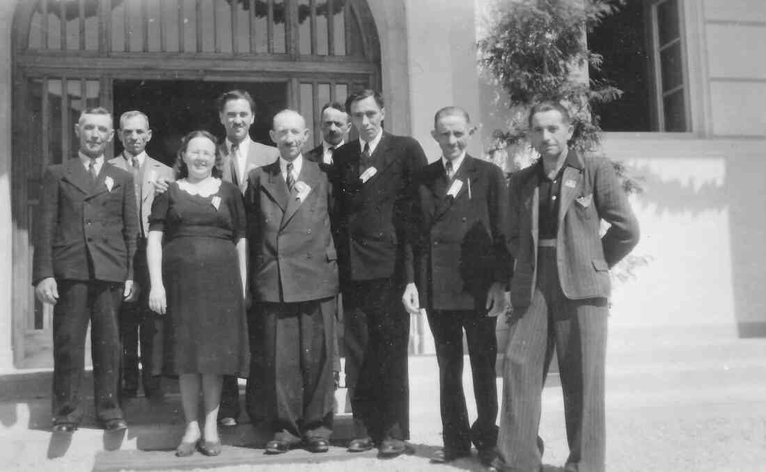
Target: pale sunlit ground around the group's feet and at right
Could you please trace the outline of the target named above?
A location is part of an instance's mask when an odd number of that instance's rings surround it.
[[[666,339],[647,346],[611,342],[607,365],[610,472],[766,470],[766,339],[686,339],[683,343]],[[23,424],[24,407],[17,402],[16,418],[7,413],[0,416],[0,470],[483,470],[475,459],[447,466],[428,463],[427,457],[441,444],[435,367],[433,357],[411,358],[415,453],[389,461],[372,454],[352,456],[341,447],[321,457],[291,451],[268,461],[262,450],[234,445],[224,447],[214,461],[199,454],[177,459],[169,451],[103,452],[112,448],[106,434],[83,429],[70,444],[56,444],[32,419]],[[470,392],[468,375],[466,388]],[[6,406],[11,403],[5,400]],[[470,408],[473,415],[474,405]],[[560,388],[553,378],[543,396],[546,472],[562,470],[566,459],[563,416]],[[178,434],[179,427],[159,432]],[[131,441],[132,446],[126,442],[120,448],[152,448],[146,447],[149,440],[143,447],[140,437]],[[62,457],[47,458],[57,454]]]

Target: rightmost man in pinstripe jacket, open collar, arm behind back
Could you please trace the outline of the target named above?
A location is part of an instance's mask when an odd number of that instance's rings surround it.
[[[510,182],[516,267],[496,468],[542,469],[540,403],[555,347],[570,451],[565,468],[603,472],[609,269],[637,244],[638,222],[611,163],[569,149],[565,107],[538,103],[529,128],[541,159]],[[610,225],[603,236],[602,218]]]

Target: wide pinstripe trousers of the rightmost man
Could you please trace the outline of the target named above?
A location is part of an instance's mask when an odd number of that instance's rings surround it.
[[[604,358],[607,300],[570,300],[561,291],[556,250],[540,247],[532,303],[515,307],[506,346],[498,438],[499,465],[538,472],[542,386],[558,356],[564,393],[568,472],[604,472]]]

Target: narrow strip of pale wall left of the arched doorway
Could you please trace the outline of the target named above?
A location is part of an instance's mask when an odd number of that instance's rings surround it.
[[[0,372],[13,367],[11,285],[11,26],[16,2],[0,1]]]

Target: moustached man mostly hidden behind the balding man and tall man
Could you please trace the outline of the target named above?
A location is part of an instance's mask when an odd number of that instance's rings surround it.
[[[322,114],[319,117],[319,120],[321,120],[322,127],[322,143],[319,144],[319,146],[316,146],[314,149],[311,149],[309,152],[306,152],[306,159],[319,164],[319,169],[322,169],[322,171],[327,174],[330,185],[332,185],[335,175],[333,173],[335,171],[335,166],[333,165],[332,155],[337,148],[345,144],[345,136],[349,133],[349,129],[351,128],[351,123],[349,122],[349,113],[345,113],[345,110],[340,103],[328,102],[325,103],[322,107]],[[335,224],[333,224],[333,228],[335,228]],[[342,310],[342,300],[338,300],[338,313],[336,313],[336,337],[333,341],[334,354],[332,360],[332,371],[335,372],[336,388],[339,386],[341,369],[339,339],[343,339],[341,332],[343,326]],[[358,346],[358,343],[354,343],[354,345]],[[353,391],[353,385],[352,382],[349,382],[349,379],[355,379],[355,373],[358,372],[359,365],[361,364],[361,362],[358,362],[358,356],[360,356],[360,354],[358,354],[358,349],[350,353],[346,351],[345,370],[347,375],[345,386],[348,389],[347,392],[349,392],[349,398],[351,396],[351,392]],[[353,372],[352,375],[348,375],[349,368]]]

